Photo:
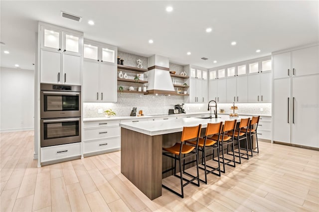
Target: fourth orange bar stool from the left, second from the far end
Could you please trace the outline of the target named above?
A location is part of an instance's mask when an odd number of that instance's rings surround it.
[[[236,161],[236,163],[239,163],[239,164],[241,164],[241,158],[244,158],[247,160],[249,159],[248,139],[247,139],[247,131],[248,131],[249,122],[250,122],[250,118],[242,118],[240,120],[238,129],[236,129],[234,133],[234,139],[238,141],[238,143],[234,144],[234,146],[238,145],[238,152],[236,151],[234,152],[237,153],[235,154],[235,156],[239,157],[239,162]],[[232,132],[227,132],[226,135],[232,136]],[[246,148],[240,146],[241,140],[246,140],[246,145],[245,145]],[[240,150],[245,150],[246,152],[240,152]],[[245,155],[247,157],[245,157]]]

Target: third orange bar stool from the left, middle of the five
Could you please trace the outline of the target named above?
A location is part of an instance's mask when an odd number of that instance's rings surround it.
[[[236,167],[236,162],[235,162],[235,152],[234,152],[234,133],[235,133],[235,127],[236,127],[236,122],[237,120],[231,120],[231,121],[225,121],[223,129],[222,129],[222,134],[218,138],[218,135],[213,135],[209,139],[219,141],[219,151],[222,152],[222,163],[223,163],[223,170],[221,170],[222,173],[225,173],[225,165]],[[231,136],[227,135],[227,132],[232,132]],[[229,153],[228,146],[231,145],[231,151],[232,153]],[[226,148],[225,148],[226,147]],[[225,158],[225,150],[228,155],[232,155],[233,159]],[[215,159],[214,159],[215,160]],[[225,160],[227,162],[225,162]],[[231,163],[234,163],[232,165]]]

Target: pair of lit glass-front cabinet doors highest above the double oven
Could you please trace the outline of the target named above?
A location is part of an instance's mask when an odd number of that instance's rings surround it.
[[[81,35],[42,26],[41,48],[81,55]]]

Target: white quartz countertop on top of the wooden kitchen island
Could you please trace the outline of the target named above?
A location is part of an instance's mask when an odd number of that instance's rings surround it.
[[[173,132],[181,132],[184,126],[195,126],[202,124],[205,128],[207,123],[218,123],[225,120],[237,119],[239,122],[241,118],[248,118],[251,116],[239,116],[230,117],[229,115],[218,115],[218,118],[179,118],[179,119],[167,119],[167,120],[155,120],[155,121],[142,121],[142,122],[130,122],[120,123],[120,126],[126,129],[130,129],[136,132],[140,132],[147,135],[162,135]]]

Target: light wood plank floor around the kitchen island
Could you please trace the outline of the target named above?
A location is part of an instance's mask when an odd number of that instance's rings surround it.
[[[319,152],[259,143],[259,155],[186,186],[184,199],[162,189],[151,201],[121,174],[120,151],[37,168],[33,131],[1,133],[0,211],[318,212]]]

